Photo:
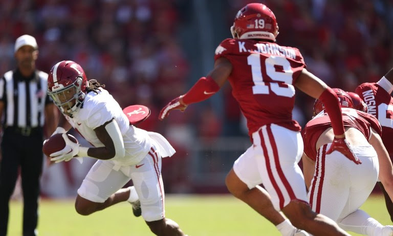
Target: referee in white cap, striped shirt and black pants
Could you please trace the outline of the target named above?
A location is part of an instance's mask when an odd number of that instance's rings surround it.
[[[23,235],[37,234],[43,125],[46,124],[46,133],[51,134],[57,120],[56,108],[46,93],[48,74],[35,69],[38,56],[35,38],[30,35],[18,37],[14,51],[17,68],[0,79],[0,117],[3,117],[0,236],[7,234],[9,200],[19,167],[24,197]]]

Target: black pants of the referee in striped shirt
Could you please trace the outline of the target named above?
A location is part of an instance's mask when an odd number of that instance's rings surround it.
[[[7,235],[9,201],[18,177],[22,180],[24,198],[23,235],[36,235],[38,221],[39,178],[42,172],[42,129],[30,136],[11,127],[5,129],[0,161],[0,236]]]

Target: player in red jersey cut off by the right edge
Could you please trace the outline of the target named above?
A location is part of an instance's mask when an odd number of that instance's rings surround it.
[[[377,117],[382,126],[382,141],[385,145],[390,159],[393,158],[393,69],[376,83],[362,83],[356,88],[356,93],[364,100],[368,107],[368,113]],[[381,182],[379,186],[385,196],[387,211],[393,222],[393,203],[390,200],[385,187]]]

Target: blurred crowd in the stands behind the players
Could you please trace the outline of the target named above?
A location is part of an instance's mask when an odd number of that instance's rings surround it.
[[[169,191],[182,191],[187,185],[182,166],[195,137],[247,136],[229,86],[212,98],[223,101],[222,110],[205,102],[191,105],[184,114],[174,112],[163,122],[157,119],[162,106],[204,76],[190,74],[193,55],[184,47],[194,44],[179,38],[190,17],[199,16],[193,8],[196,1],[204,1],[206,14],[220,11],[224,16],[228,30],[215,35],[220,38],[217,45],[231,36],[229,28],[241,7],[266,4],[277,17],[277,43],[299,48],[307,69],[331,87],[353,91],[359,83],[377,81],[393,66],[390,0],[215,0],[215,9],[205,0],[3,0],[0,73],[13,68],[15,39],[30,34],[39,46],[38,69],[49,72],[60,60],[74,60],[88,78],[106,84],[122,107],[149,106],[151,117],[140,127],[164,134],[176,147],[176,158],[164,163],[163,175],[179,183]],[[198,40],[202,32],[193,33]],[[213,57],[214,51],[208,53]],[[311,118],[313,102],[297,93],[294,117],[300,124]]]

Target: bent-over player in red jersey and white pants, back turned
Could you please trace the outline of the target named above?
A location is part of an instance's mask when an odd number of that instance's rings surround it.
[[[346,137],[362,164],[355,165],[338,152],[326,153],[334,135],[330,117],[323,112],[322,102],[316,100],[315,117],[302,131],[303,173],[312,209],[348,231],[365,235],[392,235],[393,226],[383,226],[359,210],[378,177],[393,197],[393,167],[382,144],[381,125],[374,116],[353,109],[353,101],[346,92],[340,89],[334,91],[341,103]],[[364,106],[357,103],[357,108],[363,110]]]

